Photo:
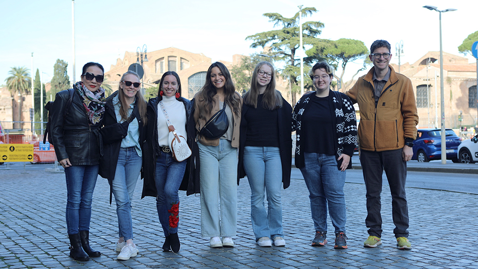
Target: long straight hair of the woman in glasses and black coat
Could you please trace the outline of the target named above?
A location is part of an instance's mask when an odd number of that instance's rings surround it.
[[[254,68],[251,78],[251,88],[242,96],[243,102],[246,105],[257,108],[257,99],[259,97],[259,85],[257,83],[257,76],[262,65],[268,65],[272,70],[272,77],[269,84],[267,84],[264,96],[262,97],[262,107],[268,110],[275,110],[282,107],[282,95],[276,90],[276,74],[274,66],[268,61],[261,61]]]

